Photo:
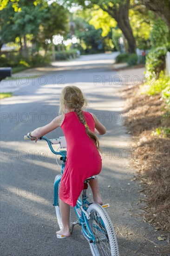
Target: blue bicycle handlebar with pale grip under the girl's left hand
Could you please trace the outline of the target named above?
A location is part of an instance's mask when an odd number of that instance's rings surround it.
[[[55,155],[61,155],[63,157],[66,157],[66,150],[60,150],[59,152],[55,151],[53,148],[52,148],[52,145],[53,144],[60,144],[61,141],[63,141],[62,139],[63,137],[60,137],[59,139],[51,139],[49,140],[48,138],[46,138],[45,136],[42,136],[42,137],[39,137],[39,140],[44,140],[48,143],[48,146],[50,148],[50,150],[52,151],[53,154]],[[25,135],[24,136],[24,140],[31,140],[31,137],[29,135]]]

